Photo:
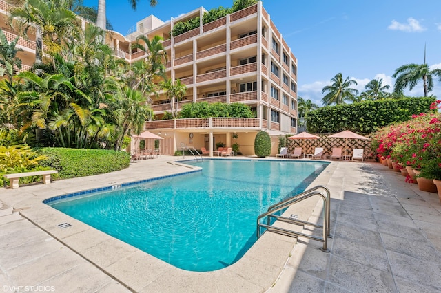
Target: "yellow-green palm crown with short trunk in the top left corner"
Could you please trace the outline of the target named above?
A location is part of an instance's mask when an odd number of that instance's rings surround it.
[[[43,41],[53,52],[59,51],[65,36],[78,28],[76,15],[63,0],[25,0],[10,10],[10,23],[26,33],[35,30],[35,63],[42,63]]]

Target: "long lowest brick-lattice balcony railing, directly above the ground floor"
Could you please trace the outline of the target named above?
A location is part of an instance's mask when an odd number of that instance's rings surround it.
[[[145,129],[260,129],[259,118],[187,118],[145,122]]]

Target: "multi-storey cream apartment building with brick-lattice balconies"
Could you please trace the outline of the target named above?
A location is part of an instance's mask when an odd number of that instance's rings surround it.
[[[0,10],[6,10],[6,5],[0,1]],[[162,120],[172,107],[159,93],[152,99],[156,120],[146,122],[145,129],[164,138],[161,153],[170,155],[185,145],[205,147],[212,155],[218,142],[226,146],[236,142],[241,153],[254,155],[254,138],[263,130],[273,138],[271,153],[275,154],[278,136],[296,133],[297,59],[261,1],[207,24],[202,22],[205,12],[197,8],[166,22],[151,15],[136,23],[136,30],[127,36],[107,34],[107,43],[116,56],[133,62],[144,57],[143,51],[131,49],[137,36],[161,36],[169,58],[167,77],[187,85],[185,97],[174,104],[178,111],[189,102],[241,102],[252,107],[256,118]],[[198,28],[170,35],[176,23],[196,17],[201,20]],[[12,40],[15,35],[8,32],[7,37]],[[32,36],[30,40],[18,44],[26,49],[23,56],[35,50]],[[23,65],[32,65],[32,56],[30,63],[22,60]]]

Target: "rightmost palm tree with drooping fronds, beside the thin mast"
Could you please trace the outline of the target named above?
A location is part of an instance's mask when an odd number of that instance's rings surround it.
[[[422,86],[424,87],[424,96],[427,97],[429,91],[433,89],[433,76],[440,77],[441,69],[429,69],[429,65],[424,64],[406,64],[398,67],[393,74],[395,80],[394,91],[402,92],[405,88],[409,87],[412,90],[420,80],[422,80]]]

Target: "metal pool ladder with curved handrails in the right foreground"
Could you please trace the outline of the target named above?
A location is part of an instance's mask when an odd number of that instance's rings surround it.
[[[322,191],[325,191],[325,194],[323,194]],[[307,199],[309,197],[313,196],[319,196],[323,199],[323,225],[314,224],[308,221],[300,221],[299,219],[296,219],[295,217],[283,217],[279,215],[274,215],[274,213],[283,210],[285,208],[288,208],[289,206],[292,206],[293,204],[296,204],[298,202],[301,202],[303,199]],[[308,239],[316,240],[323,242],[323,247],[320,248],[323,252],[329,252],[330,250],[327,247],[327,239],[332,238],[332,235],[330,234],[330,228],[329,224],[331,221],[331,193],[329,192],[329,189],[325,186],[315,186],[313,188],[308,189],[307,191],[303,191],[302,193],[299,193],[298,195],[294,195],[293,197],[289,197],[287,199],[284,199],[282,202],[278,202],[277,204],[274,204],[270,206],[266,213],[263,213],[257,217],[257,238],[259,238],[263,233],[260,233],[261,228],[265,228],[267,231],[275,232],[281,235],[286,235],[290,237],[305,237]],[[267,218],[267,224],[260,223],[260,220],[263,218]],[[277,221],[283,221],[289,224],[299,225],[299,226],[313,226],[316,228],[322,228],[323,233],[322,237],[313,236],[313,235],[307,235],[301,232],[296,232],[292,230],[287,230],[284,228],[279,228],[276,226],[271,226],[271,218],[277,219]],[[265,230],[265,231],[266,231]],[[265,232],[264,231],[264,232]]]

